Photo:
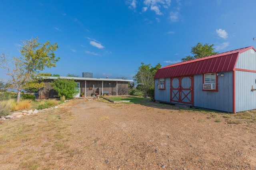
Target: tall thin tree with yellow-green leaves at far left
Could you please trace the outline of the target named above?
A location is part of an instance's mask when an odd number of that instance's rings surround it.
[[[56,62],[60,57],[55,57],[54,51],[58,49],[57,43],[53,45],[50,41],[44,44],[38,42],[38,38],[23,41],[23,46],[20,49],[21,57],[12,57],[12,68],[7,55],[0,56],[1,67],[4,68],[6,75],[11,78],[8,80],[8,87],[18,91],[17,102],[20,102],[20,92],[26,88],[41,88],[44,83],[38,82],[36,78],[42,77],[40,71],[46,67],[51,68],[56,66]]]

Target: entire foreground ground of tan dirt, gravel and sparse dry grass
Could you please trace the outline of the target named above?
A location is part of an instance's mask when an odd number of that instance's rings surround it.
[[[3,122],[0,169],[256,170],[256,123],[236,120],[150,101],[73,100]]]

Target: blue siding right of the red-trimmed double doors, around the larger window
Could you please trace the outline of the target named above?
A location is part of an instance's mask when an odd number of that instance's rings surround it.
[[[222,73],[224,73],[223,77],[218,76],[218,92],[202,91],[203,75],[194,75],[195,107],[233,112],[233,73],[232,71]]]

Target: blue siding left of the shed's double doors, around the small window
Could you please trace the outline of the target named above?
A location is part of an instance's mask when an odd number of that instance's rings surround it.
[[[165,90],[158,89],[159,79],[155,79],[155,100],[170,103],[170,78],[165,78]]]

